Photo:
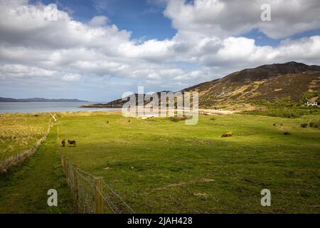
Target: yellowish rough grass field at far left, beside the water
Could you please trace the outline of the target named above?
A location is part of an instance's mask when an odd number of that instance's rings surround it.
[[[0,161],[27,150],[48,130],[48,114],[1,114]]]

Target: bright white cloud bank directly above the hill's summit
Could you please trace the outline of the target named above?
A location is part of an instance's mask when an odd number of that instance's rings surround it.
[[[233,66],[247,68],[265,63],[301,61],[319,64],[320,36],[283,41],[278,47],[256,46],[255,40],[245,37],[229,37],[214,53],[203,53],[199,61],[206,66]]]

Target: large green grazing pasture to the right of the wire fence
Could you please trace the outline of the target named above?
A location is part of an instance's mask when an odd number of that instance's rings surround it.
[[[77,140],[63,147],[68,159],[136,212],[319,213],[320,130],[300,127],[318,118],[218,115],[185,125],[92,113],[58,122],[60,139]],[[271,207],[260,204],[264,188]]]

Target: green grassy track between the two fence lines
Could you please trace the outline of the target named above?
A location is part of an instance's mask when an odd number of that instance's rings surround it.
[[[58,207],[48,207],[50,189],[58,192]],[[55,125],[29,160],[0,177],[0,213],[70,213],[71,199],[60,165]]]

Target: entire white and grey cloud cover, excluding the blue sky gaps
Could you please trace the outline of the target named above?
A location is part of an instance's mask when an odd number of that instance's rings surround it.
[[[271,23],[260,21],[260,0],[169,0],[164,14],[176,36],[135,41],[105,16],[82,23],[58,11],[57,20],[50,21],[46,6],[0,0],[1,81],[41,78],[92,88],[118,84],[176,90],[265,63],[319,64],[320,36],[287,38],[277,47],[237,36],[257,28],[270,37],[287,37],[320,26],[319,1],[265,2],[272,5]]]

